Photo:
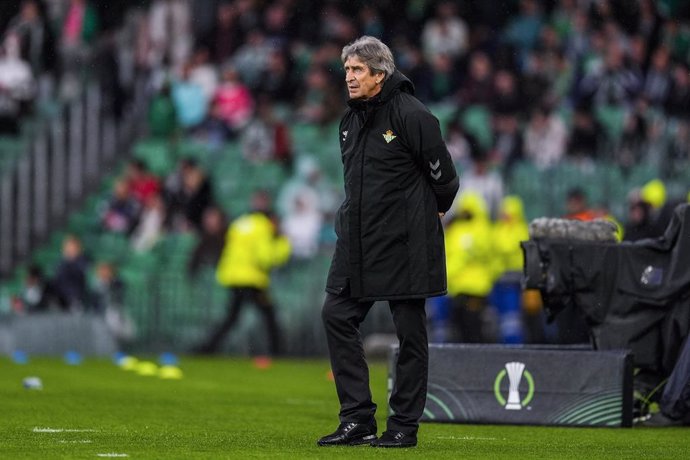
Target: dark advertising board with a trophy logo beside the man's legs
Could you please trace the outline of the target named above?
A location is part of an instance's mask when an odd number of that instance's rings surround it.
[[[432,344],[422,421],[630,427],[632,374],[628,351]]]

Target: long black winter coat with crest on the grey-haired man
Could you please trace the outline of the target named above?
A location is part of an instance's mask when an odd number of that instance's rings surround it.
[[[345,201],[326,290],[366,300],[446,293],[443,228],[458,176],[438,120],[396,71],[340,123]]]

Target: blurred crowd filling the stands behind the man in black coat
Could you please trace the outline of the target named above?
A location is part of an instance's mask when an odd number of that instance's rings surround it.
[[[584,340],[546,325],[538,294],[519,289],[527,222],[611,218],[636,240],[690,198],[682,0],[23,0],[3,2],[0,29],[1,142],[19,145],[0,151],[8,201],[35,130],[70,101],[88,107],[89,85],[99,116],[135,120],[26,250],[13,246],[23,227],[6,224],[6,314],[109,312],[137,346],[197,342],[227,303],[214,272],[228,225],[261,212],[292,247],[271,288],[287,350],[318,351],[342,199],[340,51],[364,34],[389,44],[461,174],[444,221],[449,295],[428,305],[434,340]],[[60,149],[47,150],[54,167]],[[74,180],[79,159],[65,161]],[[228,349],[255,346],[253,320]],[[390,330],[381,321],[369,332]]]

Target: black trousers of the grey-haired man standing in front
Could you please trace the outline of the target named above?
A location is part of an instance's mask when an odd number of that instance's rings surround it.
[[[376,413],[359,332],[373,304],[327,294],[323,305],[322,319],[340,400],[341,422],[369,423]],[[395,366],[395,386],[389,400],[392,415],[388,417],[387,428],[416,434],[426,404],[429,370],[424,299],[392,300],[388,304],[400,351]]]

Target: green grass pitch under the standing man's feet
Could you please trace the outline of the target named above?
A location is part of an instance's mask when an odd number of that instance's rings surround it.
[[[0,458],[690,458],[687,428],[423,424],[414,449],[320,448],[338,405],[326,361],[182,357],[181,380],[86,359],[0,358]],[[36,376],[42,390],[23,388]],[[372,365],[385,427],[386,368]]]

